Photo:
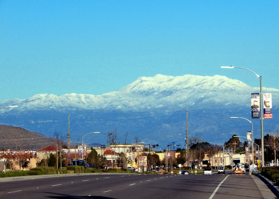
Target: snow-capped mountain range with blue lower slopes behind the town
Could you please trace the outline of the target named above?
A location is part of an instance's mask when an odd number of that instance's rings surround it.
[[[279,90],[263,88],[263,92],[272,93],[273,114],[276,116]],[[19,107],[0,109],[0,123],[52,136],[55,131],[68,133],[68,115],[71,115],[73,141],[88,132],[100,131],[100,135],[89,137],[85,143],[104,144],[107,132],[117,128],[120,142],[128,132],[129,142],[138,137],[150,144],[165,146],[174,141],[184,145],[185,110],[188,107],[189,136],[223,143],[233,133],[243,133],[244,136],[244,132],[249,131],[249,124],[231,121],[229,116],[251,118],[251,93],[259,93],[259,88],[219,75],[139,77],[126,87],[103,95],[39,94],[24,100],[5,100],[0,106]],[[254,123],[254,137],[258,138],[257,123],[260,121]],[[264,120],[266,132],[278,124],[276,117]]]

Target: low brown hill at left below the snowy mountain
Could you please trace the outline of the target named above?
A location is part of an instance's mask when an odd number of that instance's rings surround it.
[[[20,127],[0,125],[0,135],[0,149],[41,149],[48,145],[56,145],[51,137]]]

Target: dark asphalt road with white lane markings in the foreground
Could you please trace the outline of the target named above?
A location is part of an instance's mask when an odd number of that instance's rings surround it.
[[[95,199],[262,198],[249,175],[80,175],[0,182],[0,197]]]

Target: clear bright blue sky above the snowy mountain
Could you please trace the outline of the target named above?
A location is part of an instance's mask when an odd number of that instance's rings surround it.
[[[156,74],[279,89],[279,1],[0,1],[0,101]]]

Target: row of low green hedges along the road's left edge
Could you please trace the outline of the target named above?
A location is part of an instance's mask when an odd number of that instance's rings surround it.
[[[6,173],[0,172],[0,177],[20,177],[32,175],[52,175],[52,174],[73,174],[73,173],[138,173],[130,169],[104,169],[97,170],[93,168],[84,169],[82,166],[63,167],[55,169],[54,167],[36,167],[29,171],[7,171]],[[154,172],[147,172],[145,174],[155,174]]]

